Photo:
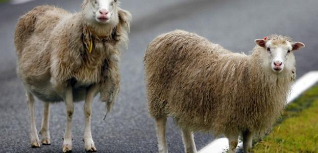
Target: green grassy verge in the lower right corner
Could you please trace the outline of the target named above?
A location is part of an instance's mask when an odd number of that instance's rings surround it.
[[[273,131],[254,152],[318,152],[318,85],[288,104]]]

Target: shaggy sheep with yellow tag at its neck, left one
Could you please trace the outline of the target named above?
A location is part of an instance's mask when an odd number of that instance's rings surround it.
[[[131,14],[116,0],[84,0],[81,12],[38,6],[21,16],[15,29],[17,75],[22,81],[30,119],[32,147],[40,147],[34,121],[34,96],[44,101],[41,142],[51,144],[50,103],[64,101],[63,152],[72,149],[74,102],[85,100],[85,150],[96,151],[90,130],[91,104],[100,93],[107,112],[119,92],[119,63],[127,49]]]

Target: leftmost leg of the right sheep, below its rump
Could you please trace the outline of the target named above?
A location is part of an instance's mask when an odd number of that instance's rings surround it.
[[[156,132],[159,153],[167,153],[168,147],[165,137],[167,117],[156,118]]]

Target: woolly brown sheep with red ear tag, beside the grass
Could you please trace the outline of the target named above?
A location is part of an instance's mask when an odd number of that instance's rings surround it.
[[[293,51],[305,45],[281,35],[255,42],[251,55],[244,55],[176,30],[148,45],[144,76],[159,152],[168,152],[168,116],[181,129],[185,152],[197,152],[193,132],[224,134],[229,152],[235,152],[240,135],[244,152],[250,152],[253,136],[271,129],[295,81]]]

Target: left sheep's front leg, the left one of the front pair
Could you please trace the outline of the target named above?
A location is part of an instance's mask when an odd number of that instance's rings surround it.
[[[64,102],[66,107],[66,130],[63,137],[63,152],[71,152],[72,150],[72,134],[71,134],[71,122],[74,113],[72,87],[67,85],[65,90]]]

